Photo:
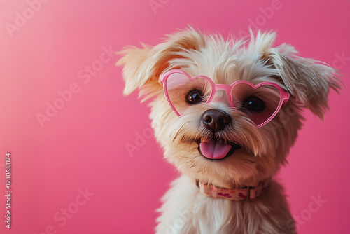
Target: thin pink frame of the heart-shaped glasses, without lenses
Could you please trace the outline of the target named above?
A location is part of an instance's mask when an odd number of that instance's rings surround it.
[[[263,125],[269,123],[269,121],[271,121],[272,118],[274,118],[274,116],[276,116],[276,114],[279,112],[281,107],[283,105],[287,104],[287,102],[289,100],[289,97],[290,97],[288,92],[284,91],[281,88],[281,86],[279,86],[279,85],[277,85],[276,83],[273,83],[273,82],[262,82],[262,83],[259,83],[258,85],[253,85],[253,83],[250,83],[248,81],[235,81],[234,83],[232,83],[230,85],[225,85],[225,84],[221,84],[221,83],[214,83],[214,81],[212,81],[211,78],[209,78],[208,76],[194,76],[194,77],[191,77],[185,71],[182,71],[182,70],[179,70],[179,69],[173,69],[173,70],[167,71],[165,74],[160,74],[158,82],[163,85],[163,90],[165,92],[165,97],[167,98],[167,101],[168,101],[169,105],[172,107],[172,110],[179,117],[181,117],[181,114],[175,109],[175,106],[172,104],[172,101],[169,98],[169,94],[168,94],[168,90],[167,90],[167,79],[169,78],[169,76],[171,74],[174,74],[174,73],[179,73],[179,74],[183,74],[183,75],[187,76],[189,81],[194,81],[194,80],[196,80],[198,78],[204,78],[207,81],[209,81],[209,83],[211,84],[211,94],[210,94],[209,99],[205,103],[211,102],[211,100],[214,98],[214,96],[215,96],[215,94],[216,94],[216,92],[218,90],[225,90],[225,92],[228,95],[228,102],[230,103],[230,106],[233,109],[235,109],[235,105],[232,102],[232,89],[235,88],[236,85],[238,85],[240,83],[245,83],[247,85],[250,85],[251,88],[253,88],[253,89],[259,88],[262,85],[272,85],[272,86],[274,86],[275,88],[277,88],[277,90],[279,90],[279,95],[280,95],[279,105],[277,106],[277,108],[274,111],[274,113],[272,114],[272,116],[267,118],[267,120],[264,121],[263,123],[260,123],[260,125],[256,125],[258,128],[260,128]]]

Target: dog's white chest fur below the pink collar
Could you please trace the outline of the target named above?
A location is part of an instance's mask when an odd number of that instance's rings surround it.
[[[162,198],[157,233],[295,233],[283,187],[272,182],[257,200],[207,198],[186,176]]]

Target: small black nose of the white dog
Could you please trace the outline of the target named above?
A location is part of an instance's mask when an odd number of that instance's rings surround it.
[[[209,109],[203,113],[202,121],[206,128],[218,132],[231,122],[231,117],[224,111]]]

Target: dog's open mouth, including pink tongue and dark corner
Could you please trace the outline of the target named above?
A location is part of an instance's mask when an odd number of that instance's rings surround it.
[[[236,149],[240,149],[241,145],[235,142],[223,142],[221,139],[202,138],[196,141],[198,144],[198,151],[202,156],[209,159],[222,159],[235,153]]]

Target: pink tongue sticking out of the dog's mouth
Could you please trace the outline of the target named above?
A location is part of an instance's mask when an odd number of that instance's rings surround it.
[[[215,139],[204,139],[203,142],[200,143],[200,151],[207,158],[212,159],[220,159],[225,157],[230,151],[232,146],[230,144],[223,144],[221,142],[217,142]]]

